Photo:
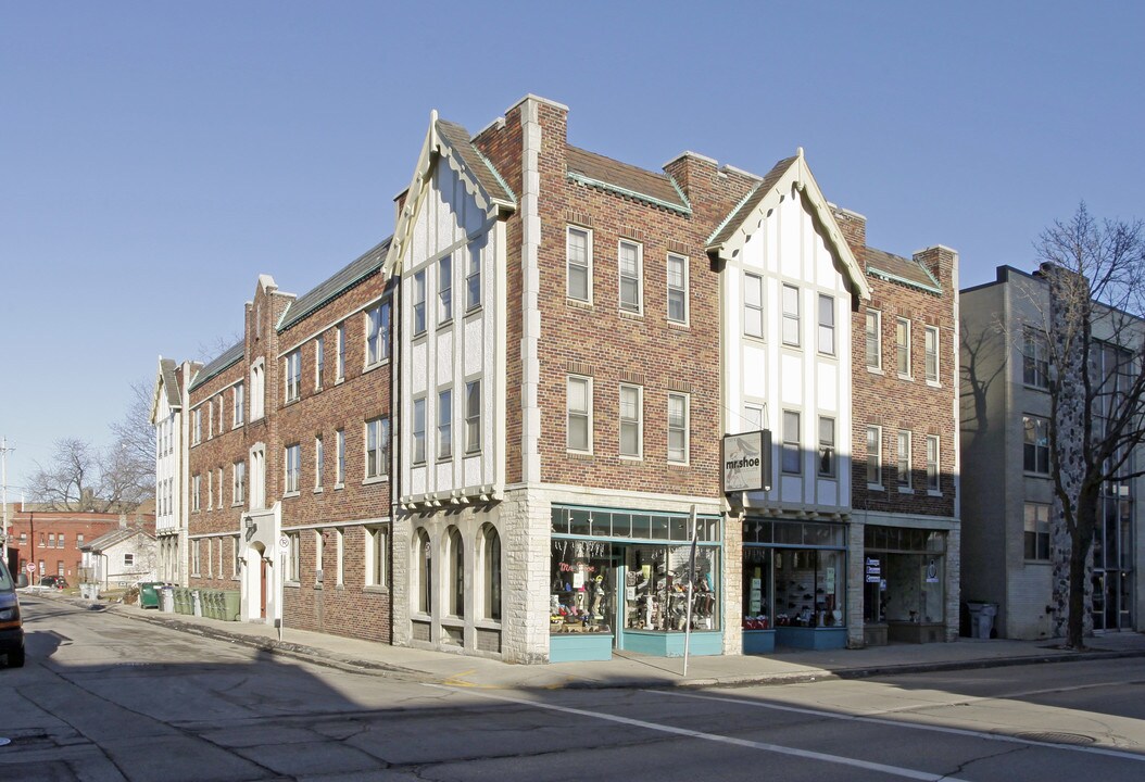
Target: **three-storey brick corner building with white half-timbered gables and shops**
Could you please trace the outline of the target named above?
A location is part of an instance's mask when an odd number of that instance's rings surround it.
[[[941,618],[903,616],[948,626],[953,253],[867,252],[802,150],[650,172],[567,124],[536,96],[476,135],[434,113],[392,239],[298,299],[260,278],[189,387],[191,585],[239,587],[247,621],[524,663],[678,655],[690,587],[694,654],[839,648],[864,642],[864,554],[915,542],[864,529],[935,529]],[[943,340],[893,412],[862,363],[872,295]],[[915,495],[876,507],[878,416],[919,450]],[[725,495],[724,436],[760,429],[766,487]]]

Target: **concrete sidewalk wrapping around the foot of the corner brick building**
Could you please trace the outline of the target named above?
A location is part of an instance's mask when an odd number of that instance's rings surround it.
[[[58,593],[56,600],[151,622],[182,632],[346,671],[386,671],[417,681],[488,688],[735,687],[813,681],[829,677],[864,678],[892,673],[996,668],[1030,663],[1145,656],[1145,634],[1122,632],[1089,639],[1085,651],[1059,648],[1053,640],[1009,641],[963,638],[954,643],[892,645],[836,651],[781,651],[768,656],[692,657],[682,676],[680,657],[617,653],[607,662],[513,665],[496,659],[410,649],[373,641],[263,624],[220,622],[118,603],[93,603]]]

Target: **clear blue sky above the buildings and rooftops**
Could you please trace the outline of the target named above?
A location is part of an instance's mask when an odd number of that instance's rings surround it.
[[[9,499],[55,440],[105,445],[160,354],[236,333],[260,272],[303,293],[387,236],[431,109],[475,132],[535,93],[653,169],[804,147],[871,245],[951,246],[965,287],[1081,199],[1145,216],[1143,30],[1136,2],[0,0]]]

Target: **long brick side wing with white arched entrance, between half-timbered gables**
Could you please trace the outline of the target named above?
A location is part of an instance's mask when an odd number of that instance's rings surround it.
[[[244,619],[389,640],[387,247],[299,298],[261,276],[191,382],[190,585]]]

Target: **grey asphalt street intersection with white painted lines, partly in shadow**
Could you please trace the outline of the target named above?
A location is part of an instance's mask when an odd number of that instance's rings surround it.
[[[0,779],[1145,777],[1145,659],[724,689],[461,687],[24,599]]]

